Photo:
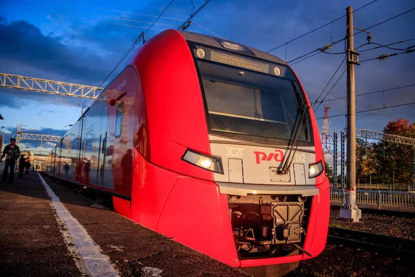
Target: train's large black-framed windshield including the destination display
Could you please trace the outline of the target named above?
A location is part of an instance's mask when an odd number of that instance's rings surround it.
[[[306,99],[288,66],[211,46],[191,48],[210,134],[288,145],[301,124],[299,145],[313,145]]]

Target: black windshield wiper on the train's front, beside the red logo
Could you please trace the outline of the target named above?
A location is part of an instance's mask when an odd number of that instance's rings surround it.
[[[279,168],[277,170],[277,174],[279,174],[279,175],[288,174],[288,172],[291,168],[291,163],[293,163],[293,159],[295,157],[295,152],[297,151],[299,141],[301,141],[302,133],[304,132],[304,129],[306,129],[306,126],[307,126],[307,120],[305,120],[305,119],[306,119],[307,111],[310,108],[308,105],[304,104],[304,102],[302,101],[301,96],[299,96],[299,91],[297,90],[297,87],[295,87],[295,84],[293,82],[292,82],[292,84],[293,84],[293,87],[295,89],[295,95],[297,96],[298,111],[297,111],[297,117],[295,118],[295,122],[294,122],[294,126],[293,126],[293,131],[295,129],[295,132],[291,133],[290,141],[288,141],[288,155],[286,155],[286,159],[284,161],[284,164],[283,164],[282,168]],[[299,117],[299,122],[297,124],[297,119],[298,119],[299,114],[301,114],[301,116]],[[293,138],[293,141],[291,143],[291,138],[293,137],[293,135],[294,135],[294,138]],[[308,138],[308,132],[306,134],[306,138]],[[290,145],[290,143],[291,143],[291,145]]]

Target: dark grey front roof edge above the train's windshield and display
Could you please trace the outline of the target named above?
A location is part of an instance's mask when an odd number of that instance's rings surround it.
[[[223,48],[223,46],[219,43],[219,37],[212,37],[210,35],[202,35],[199,33],[192,33],[192,32],[187,32],[187,31],[183,31],[183,30],[179,30],[179,33],[181,33],[181,35],[183,35],[183,37],[185,37],[186,40],[190,40],[192,42],[199,42],[201,44],[205,44],[205,45],[209,45],[209,46],[214,46],[214,47],[218,47],[218,48]],[[228,39],[221,39],[225,42],[230,42],[232,44],[237,44],[235,42],[231,42]],[[268,54],[266,52],[260,51],[258,49],[243,45],[243,44],[238,44],[241,46],[244,46],[246,48],[248,48],[250,51],[252,51],[255,56],[264,59],[264,60],[269,60],[272,62],[278,62],[279,64],[286,64],[288,65],[286,62],[284,62],[284,60],[280,59],[279,57],[276,57],[275,55],[271,55]]]

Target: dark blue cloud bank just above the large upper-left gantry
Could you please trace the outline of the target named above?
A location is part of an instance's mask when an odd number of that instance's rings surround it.
[[[99,82],[107,72],[101,67],[103,58],[91,49],[63,44],[61,40],[42,34],[27,21],[0,21],[0,70],[8,72],[17,64],[21,75],[37,71],[38,78],[53,73],[66,81]]]

